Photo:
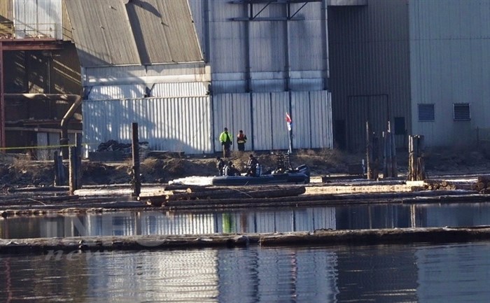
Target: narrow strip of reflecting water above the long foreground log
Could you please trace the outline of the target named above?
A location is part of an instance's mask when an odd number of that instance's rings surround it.
[[[490,225],[490,204],[356,205],[217,212],[118,212],[0,220],[3,239]]]

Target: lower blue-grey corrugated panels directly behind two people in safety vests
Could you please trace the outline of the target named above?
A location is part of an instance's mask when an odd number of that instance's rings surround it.
[[[224,127],[235,136],[244,130],[246,150],[287,150],[286,112],[293,118],[293,148],[332,148],[329,92],[218,94],[213,106],[216,151]]]

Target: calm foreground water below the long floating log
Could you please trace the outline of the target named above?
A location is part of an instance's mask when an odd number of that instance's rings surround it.
[[[0,255],[0,302],[490,302],[490,243]]]

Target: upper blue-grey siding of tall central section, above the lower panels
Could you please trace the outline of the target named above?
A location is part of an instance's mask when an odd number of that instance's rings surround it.
[[[190,3],[195,6],[194,1]],[[295,12],[302,4],[290,4],[291,11]],[[248,6],[244,3],[214,0],[209,5],[214,93],[324,89],[328,50],[321,2],[310,2],[301,8],[297,16],[304,20],[288,22],[236,21],[232,18],[248,17]],[[255,13],[262,7],[265,9],[257,17],[287,14],[287,6],[278,3],[269,6],[255,3]],[[193,11],[199,9],[196,6]],[[204,27],[208,28],[205,24]],[[205,30],[202,39],[207,39]]]

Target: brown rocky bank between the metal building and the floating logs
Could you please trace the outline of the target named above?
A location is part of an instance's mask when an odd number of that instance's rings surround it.
[[[274,169],[276,155],[273,153],[254,153],[262,167]],[[235,166],[245,171],[249,153],[232,153]],[[349,164],[360,164],[365,155],[353,155],[339,150],[299,150],[295,151],[291,162],[293,166],[306,164],[312,176],[347,174]],[[398,170],[400,176],[407,173],[408,155],[398,152]],[[490,171],[490,153],[484,149],[474,150],[428,150],[426,152],[426,170],[430,174],[478,174]],[[94,162],[83,160],[83,184],[107,185],[130,183],[131,161]],[[67,170],[66,170],[67,171]],[[165,156],[147,157],[141,162],[143,183],[167,183],[185,176],[214,176],[216,157]],[[67,174],[66,174],[67,175]],[[0,186],[5,188],[25,187],[29,185],[48,186],[54,182],[54,163],[38,162],[27,159],[25,155],[0,155]]]

